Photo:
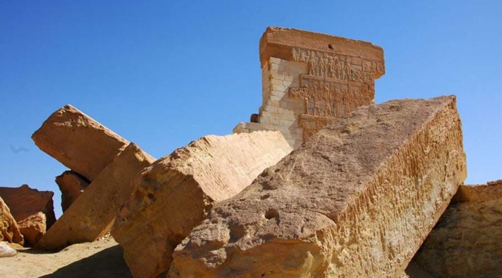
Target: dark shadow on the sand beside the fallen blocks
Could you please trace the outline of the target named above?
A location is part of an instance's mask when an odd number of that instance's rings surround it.
[[[132,277],[123,259],[120,245],[111,246],[91,256],[63,266],[52,274],[41,278],[122,278]]]

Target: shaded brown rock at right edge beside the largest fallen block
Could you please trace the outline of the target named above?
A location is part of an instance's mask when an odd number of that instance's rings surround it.
[[[436,278],[500,277],[502,180],[461,185],[413,262]]]

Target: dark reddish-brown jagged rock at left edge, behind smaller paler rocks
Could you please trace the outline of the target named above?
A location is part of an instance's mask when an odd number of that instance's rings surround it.
[[[38,212],[45,214],[45,226],[51,227],[56,221],[52,191],[39,191],[28,184],[20,187],[0,187],[0,196],[11,209],[16,221],[22,221]]]

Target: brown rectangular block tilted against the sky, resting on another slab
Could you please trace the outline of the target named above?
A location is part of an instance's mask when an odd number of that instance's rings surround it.
[[[129,143],[69,104],[52,113],[32,139],[41,150],[88,180]]]

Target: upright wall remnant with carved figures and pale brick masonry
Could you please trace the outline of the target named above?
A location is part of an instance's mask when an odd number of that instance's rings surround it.
[[[384,52],[369,42],[269,27],[260,40],[263,103],[234,133],[279,130],[297,148],[326,124],[374,102]]]

